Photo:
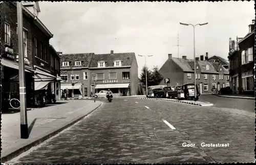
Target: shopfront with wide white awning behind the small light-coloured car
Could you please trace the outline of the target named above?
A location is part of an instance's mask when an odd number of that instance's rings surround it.
[[[96,84],[96,92],[110,89],[114,96],[131,96],[130,83]]]

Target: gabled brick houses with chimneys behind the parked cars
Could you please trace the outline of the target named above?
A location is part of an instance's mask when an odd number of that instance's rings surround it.
[[[207,61],[207,59],[208,53],[206,53],[205,60],[203,59],[203,56],[201,56],[201,59],[199,59],[199,57],[196,58],[195,75],[194,60],[187,59],[186,56],[182,56],[182,58],[173,58],[172,54],[169,54],[167,61],[160,68],[159,72],[164,78],[170,79],[170,86],[194,83],[194,76],[196,76],[200,93],[211,93],[212,88],[218,87],[218,82],[221,84],[228,80],[225,80],[224,72],[218,72],[214,65]],[[224,67],[221,70],[223,69]],[[218,76],[221,79],[218,79]],[[165,85],[164,81],[161,81],[160,85]]]

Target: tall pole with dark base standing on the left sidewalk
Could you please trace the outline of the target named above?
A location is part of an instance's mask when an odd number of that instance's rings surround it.
[[[20,137],[28,138],[28,119],[26,103],[26,81],[24,67],[23,48],[23,9],[21,2],[17,2],[17,24],[18,24],[18,75],[19,75],[19,101],[20,101]]]

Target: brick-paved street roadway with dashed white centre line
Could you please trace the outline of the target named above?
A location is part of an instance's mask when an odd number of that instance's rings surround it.
[[[82,101],[82,100],[81,100]],[[254,162],[254,117],[161,100],[101,99],[83,120],[6,163]],[[183,147],[182,144],[194,144]],[[202,147],[226,144],[229,147]]]

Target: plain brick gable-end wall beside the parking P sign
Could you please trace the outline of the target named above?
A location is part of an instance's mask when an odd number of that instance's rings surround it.
[[[172,59],[167,60],[163,66],[159,69],[159,72],[163,75],[163,78],[169,78],[169,86],[176,86],[177,82],[183,84],[183,70]],[[166,85],[164,79],[159,85]]]

